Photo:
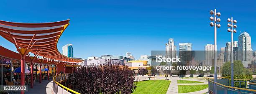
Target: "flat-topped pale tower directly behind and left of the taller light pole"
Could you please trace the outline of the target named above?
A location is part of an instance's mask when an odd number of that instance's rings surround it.
[[[212,66],[213,58],[214,58],[214,45],[207,44],[205,46],[205,64],[203,64],[203,66]]]

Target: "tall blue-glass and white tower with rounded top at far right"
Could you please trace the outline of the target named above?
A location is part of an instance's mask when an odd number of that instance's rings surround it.
[[[247,32],[243,32],[238,37],[238,60],[242,61],[243,65],[246,67],[251,65],[251,58],[251,36]]]

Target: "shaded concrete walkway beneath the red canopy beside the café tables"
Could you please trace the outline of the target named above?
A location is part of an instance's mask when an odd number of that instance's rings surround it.
[[[49,80],[49,81],[43,80],[41,84],[39,84],[39,82],[36,81],[34,83],[34,88],[31,89],[29,85],[28,91],[25,92],[25,94],[51,94],[51,89],[52,89],[52,80]],[[20,94],[20,92],[15,92],[14,94]]]

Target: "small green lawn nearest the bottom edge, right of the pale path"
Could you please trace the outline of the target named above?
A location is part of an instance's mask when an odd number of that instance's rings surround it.
[[[204,85],[178,85],[178,93],[188,93],[206,89],[208,84]]]

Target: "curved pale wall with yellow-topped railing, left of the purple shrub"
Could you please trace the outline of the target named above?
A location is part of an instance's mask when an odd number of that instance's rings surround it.
[[[62,82],[67,81],[68,78],[69,74],[59,74],[54,76],[52,94],[81,94],[60,84]]]

